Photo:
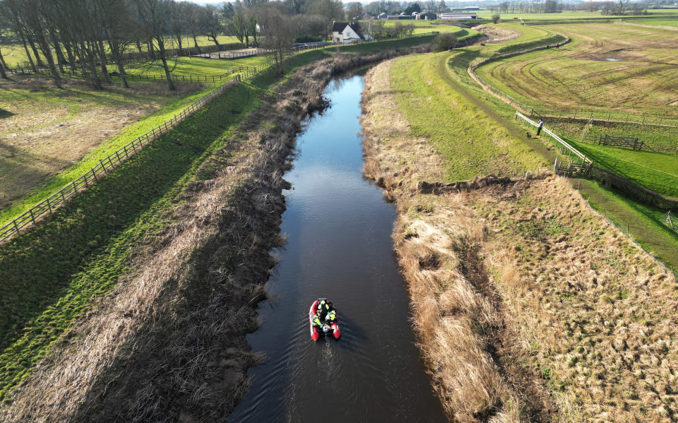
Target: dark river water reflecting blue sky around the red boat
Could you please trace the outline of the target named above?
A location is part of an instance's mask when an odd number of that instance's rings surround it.
[[[408,294],[391,245],[396,218],[381,189],[362,178],[362,76],[331,83],[331,108],[297,140],[285,179],[287,210],[272,300],[248,336],[268,361],[232,422],[444,422],[415,346]],[[331,299],[340,340],[313,342],[308,310]]]

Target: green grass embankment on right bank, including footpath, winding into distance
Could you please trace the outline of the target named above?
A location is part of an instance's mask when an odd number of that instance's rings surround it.
[[[530,145],[522,130],[513,123],[513,111],[503,102],[484,94],[470,79],[466,68],[470,61],[498,52],[533,46],[554,36],[548,30],[500,24],[499,28],[515,30],[521,36],[499,44],[472,46],[454,52],[424,54],[398,59],[391,68],[391,84],[401,110],[410,121],[412,133],[433,141],[436,150],[448,158],[448,181],[469,179],[477,174],[522,174],[537,169],[546,161],[530,150],[547,149]],[[547,41],[548,42],[548,41]],[[472,85],[473,84],[473,85]],[[444,88],[444,89],[443,89]],[[467,88],[483,100],[468,95]],[[500,124],[497,124],[497,122]],[[449,134],[459,134],[465,143],[456,142]]]

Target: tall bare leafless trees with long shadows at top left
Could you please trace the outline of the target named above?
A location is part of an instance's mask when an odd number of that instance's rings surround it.
[[[172,0],[0,0],[0,32],[5,40],[22,45],[33,71],[47,68],[54,84],[61,87],[64,65],[87,74],[95,87],[109,79],[112,59],[125,87],[125,54],[143,46],[162,64],[169,88],[167,49],[174,42],[183,49],[191,35],[216,39],[221,30],[214,6],[199,6]],[[12,37],[9,37],[11,34]],[[0,67],[7,68],[0,50]]]

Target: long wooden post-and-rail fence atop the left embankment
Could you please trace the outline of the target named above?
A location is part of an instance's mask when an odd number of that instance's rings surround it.
[[[427,32],[424,34],[398,37],[397,39],[428,37],[430,35],[437,34],[439,34],[439,32]],[[379,40],[376,42],[389,40]],[[285,56],[283,56],[283,60],[288,59],[292,56],[296,56],[297,54],[308,52],[309,50],[326,49],[328,47],[335,46],[322,46],[322,47],[310,47],[308,49],[299,49],[290,54],[285,54]],[[266,63],[258,64],[256,66],[240,66],[238,68],[239,71],[234,71],[230,73],[230,75],[234,75],[232,81],[234,84],[237,84],[242,81],[242,75],[244,75],[245,77],[255,76],[256,73],[264,71],[266,68],[272,67],[273,64],[275,64],[275,59],[270,59],[266,61]],[[45,213],[49,214],[53,213],[54,210],[57,210],[57,208],[59,208],[61,205],[64,205],[64,203],[66,203],[66,201],[69,198],[75,196],[81,191],[84,191],[91,184],[95,184],[100,177],[104,176],[107,172],[110,172],[112,169],[117,167],[117,165],[120,165],[129,157],[141,151],[145,145],[152,143],[157,138],[160,138],[160,136],[173,129],[179,123],[186,120],[187,117],[190,117],[192,114],[198,111],[198,109],[201,109],[204,105],[213,100],[215,97],[224,93],[224,91],[230,88],[231,86],[232,85],[228,83],[224,83],[220,85],[218,88],[211,90],[206,95],[203,95],[198,100],[191,103],[191,105],[184,107],[184,109],[182,109],[181,112],[174,114],[174,116],[168,121],[165,121],[165,123],[156,126],[150,131],[144,133],[142,136],[139,136],[130,143],[124,145],[122,148],[119,148],[118,150],[114,151],[107,157],[99,160],[97,165],[95,165],[90,170],[85,172],[85,174],[83,174],[81,177],[78,177],[73,181],[69,182],[69,184],[66,184],[66,186],[59,189],[59,191],[53,193],[51,196],[40,201],[40,203],[33,205],[27,211],[18,215],[16,218],[13,218],[11,221],[6,223],[6,225],[0,227],[0,242],[4,242],[6,239],[9,239],[15,234],[18,234],[19,231],[22,230],[24,227],[35,224],[36,220]]]

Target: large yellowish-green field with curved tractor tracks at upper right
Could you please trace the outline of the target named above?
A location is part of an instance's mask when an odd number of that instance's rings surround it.
[[[678,102],[678,32],[617,24],[547,28],[573,42],[493,61],[476,73],[542,114],[678,116],[670,106]]]

